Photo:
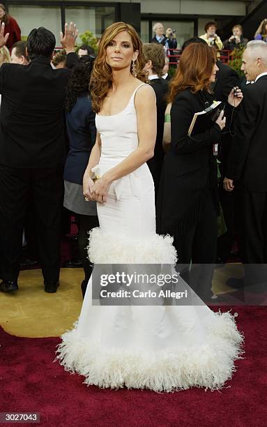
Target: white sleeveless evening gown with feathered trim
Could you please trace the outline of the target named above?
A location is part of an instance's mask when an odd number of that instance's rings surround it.
[[[137,148],[135,92],[120,113],[96,116],[100,175]],[[171,237],[155,234],[154,186],[146,163],[112,183],[107,202],[98,204],[98,218],[100,227],[89,239],[95,264],[175,263]],[[234,316],[205,305],[93,306],[91,279],[79,320],[61,338],[57,359],[84,375],[86,384],[154,391],[220,389],[235,371],[243,341]]]

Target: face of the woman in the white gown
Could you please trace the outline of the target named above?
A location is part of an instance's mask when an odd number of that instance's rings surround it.
[[[117,34],[107,45],[106,52],[106,61],[114,70],[130,67],[131,62],[138,57],[138,50],[134,51],[132,38],[128,31],[121,31]]]

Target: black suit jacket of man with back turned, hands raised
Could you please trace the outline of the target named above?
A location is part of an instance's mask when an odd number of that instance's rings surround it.
[[[37,57],[0,68],[0,162],[20,168],[57,167],[65,160],[64,100],[70,70]]]

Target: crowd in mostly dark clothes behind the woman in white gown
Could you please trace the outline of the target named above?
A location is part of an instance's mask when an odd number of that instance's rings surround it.
[[[2,11],[5,12],[4,8]],[[6,16],[6,22],[13,21]],[[260,33],[264,33],[264,24],[265,21],[259,27]],[[156,96],[157,135],[153,157],[147,159],[147,164],[155,186],[158,232],[174,237],[178,264],[183,266],[191,262],[227,262],[235,239],[243,262],[264,262],[265,225],[260,225],[260,216],[256,217],[256,202],[251,201],[250,211],[246,208],[245,215],[250,216],[248,220],[253,222],[253,213],[257,223],[250,225],[253,232],[249,243],[247,223],[244,222],[242,227],[240,220],[243,197],[238,182],[244,170],[239,171],[234,195],[232,193],[236,171],[229,169],[229,165],[239,163],[234,157],[238,157],[239,151],[234,147],[238,144],[238,135],[243,132],[240,117],[245,103],[241,103],[243,95],[238,89],[238,75],[218,59],[222,42],[216,34],[215,22],[206,24],[204,36],[191,38],[183,44],[183,54],[172,80],[167,73],[167,53],[177,47],[175,32],[168,29],[165,35],[160,23],[154,25],[153,31],[152,43],[142,46],[142,75]],[[66,26],[65,33],[61,34],[63,50],[56,54],[53,54],[54,35],[42,27],[31,31],[26,42],[19,40],[10,46],[10,34],[2,17],[0,36],[1,50],[10,57],[7,62],[20,65],[3,64],[0,69],[3,97],[0,145],[3,187],[0,201],[1,290],[9,292],[18,288],[24,230],[29,246],[34,241],[43,269],[45,290],[56,292],[63,205],[65,215],[66,212],[68,216],[74,214],[78,223],[77,265],[84,267],[84,295],[92,271],[86,251],[88,233],[98,225],[96,202],[85,201],[83,195],[83,177],[96,140],[97,110],[96,105],[91,105],[89,89],[96,52],[90,46],[82,45],[75,53],[77,29],[73,23]],[[43,39],[45,43],[40,45]],[[231,47],[247,44],[240,25],[233,27],[233,36],[224,42],[225,45],[227,43]],[[7,46],[10,46],[10,55]],[[257,79],[256,70],[250,73],[250,67],[256,67],[255,55],[258,55],[257,70],[265,72],[266,46],[264,40],[247,44],[247,62],[243,59],[243,70],[248,69],[245,74],[247,81],[250,82],[248,77],[252,82]],[[192,58],[197,63],[196,69],[192,68]],[[213,61],[215,65],[211,70],[208,64]],[[133,63],[134,73],[135,67]],[[55,73],[53,68],[58,71]],[[234,88],[237,88],[235,95]],[[213,127],[204,129],[203,135],[188,136],[194,112],[204,110],[214,99],[222,102],[223,112]],[[241,107],[238,107],[239,103]],[[241,112],[236,112],[236,108],[241,108]],[[246,168],[247,160],[243,161]],[[266,209],[264,204],[261,209]],[[222,233],[218,230],[218,217],[224,225]],[[255,236],[258,236],[257,244],[262,248],[261,255],[259,248],[256,251],[249,247]],[[70,267],[75,267],[71,261]],[[181,274],[189,280],[188,269],[182,269]],[[201,294],[206,299],[215,297],[211,292],[212,276],[211,269]]]

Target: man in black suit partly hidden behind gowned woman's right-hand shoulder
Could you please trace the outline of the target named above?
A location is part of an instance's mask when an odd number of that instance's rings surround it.
[[[162,78],[162,70],[165,66],[165,52],[162,45],[147,43],[143,45],[143,53],[146,61],[144,69],[148,71],[148,80],[155,91],[157,100],[157,137],[155,140],[155,150],[153,158],[147,162],[155,184],[156,199],[164,159],[162,139],[169,85]]]

